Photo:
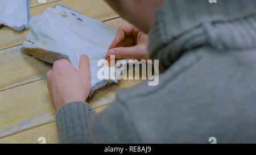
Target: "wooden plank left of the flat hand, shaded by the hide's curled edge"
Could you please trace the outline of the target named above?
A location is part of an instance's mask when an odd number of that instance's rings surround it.
[[[26,55],[22,45],[0,51],[0,91],[46,77],[51,65]]]

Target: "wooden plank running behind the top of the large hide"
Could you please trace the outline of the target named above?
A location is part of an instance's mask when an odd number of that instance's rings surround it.
[[[35,1],[32,1],[35,4]],[[30,9],[30,17],[40,15],[47,7],[54,7],[57,3],[88,15],[92,18],[104,21],[117,18],[118,15],[102,0],[62,0],[46,5],[40,5]],[[31,5],[32,5],[31,4]],[[28,30],[16,32],[9,27],[0,28],[0,50],[22,44],[26,40]]]

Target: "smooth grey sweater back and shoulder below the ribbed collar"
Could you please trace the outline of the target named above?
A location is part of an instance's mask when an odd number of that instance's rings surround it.
[[[218,53],[203,48],[186,53],[159,76],[159,85],[144,81],[119,90],[98,120],[109,131],[127,133],[123,139],[134,136],[137,142],[208,143],[214,135],[222,143],[253,141],[253,56],[254,50]]]

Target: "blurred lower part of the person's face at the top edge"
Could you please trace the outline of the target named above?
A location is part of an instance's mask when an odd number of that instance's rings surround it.
[[[148,33],[164,0],[105,0],[122,18]]]

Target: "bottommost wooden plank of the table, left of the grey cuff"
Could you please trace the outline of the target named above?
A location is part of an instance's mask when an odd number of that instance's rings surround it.
[[[95,111],[100,113],[106,107],[108,107],[108,105],[96,108]],[[5,137],[0,139],[0,144],[39,144],[39,137],[45,137],[47,144],[59,143],[56,122],[44,124],[39,127]]]

